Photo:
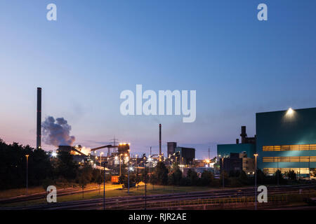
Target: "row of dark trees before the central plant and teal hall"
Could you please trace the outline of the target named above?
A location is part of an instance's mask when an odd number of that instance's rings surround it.
[[[183,175],[178,164],[174,163],[171,167],[167,168],[163,162],[158,162],[154,168],[147,167],[141,169],[140,172],[136,171],[135,174],[129,175],[130,186],[143,181],[144,183],[151,183],[152,185],[160,186],[209,186],[221,187],[223,182],[228,187],[241,187],[241,186],[254,186],[254,176],[248,176],[244,171],[224,172],[220,173],[219,178],[215,178],[213,172],[204,170],[202,174],[198,174],[194,169],[188,169],[186,175]],[[287,179],[285,178],[287,177]],[[224,181],[223,181],[224,179]],[[296,174],[294,171],[289,171],[286,174],[281,174],[278,170],[272,176],[265,175],[261,169],[257,170],[257,183],[258,184],[288,184],[289,181],[296,181]],[[128,179],[125,173],[122,173],[119,178],[119,183],[128,185]]]

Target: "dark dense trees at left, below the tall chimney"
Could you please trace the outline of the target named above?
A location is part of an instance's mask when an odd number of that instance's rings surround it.
[[[18,143],[6,144],[0,139],[0,190],[25,188],[28,156],[28,186],[49,185],[65,187],[87,183],[103,183],[103,172],[93,169],[88,163],[79,165],[73,155],[60,151],[56,158],[42,149],[22,146]],[[106,181],[110,176],[106,176]]]

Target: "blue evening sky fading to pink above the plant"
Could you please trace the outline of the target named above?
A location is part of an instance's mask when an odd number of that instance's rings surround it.
[[[57,21],[46,20],[48,3]],[[257,6],[268,6],[268,21]],[[176,141],[216,155],[255,114],[315,107],[316,1],[0,1],[0,138],[36,146],[42,120],[65,118],[74,144],[115,136],[131,153]],[[197,118],[122,116],[123,90],[196,90]],[[45,150],[54,146],[43,144]]]

